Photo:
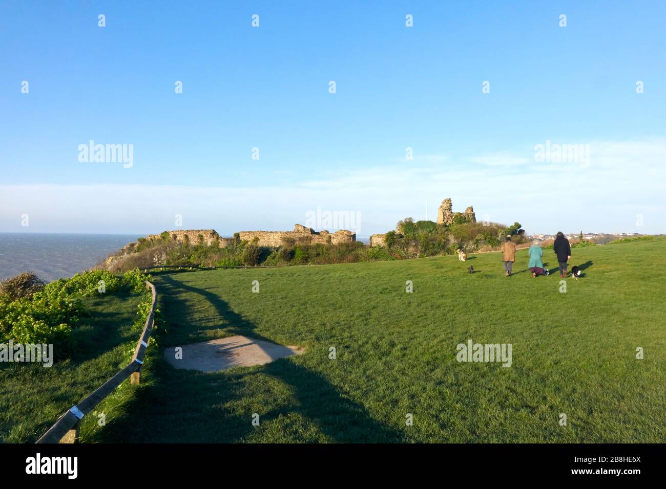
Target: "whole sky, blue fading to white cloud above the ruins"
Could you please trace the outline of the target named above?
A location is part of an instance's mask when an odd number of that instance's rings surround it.
[[[0,231],[228,235],[321,208],[368,236],[450,197],[528,232],[666,232],[666,4],[507,4],[5,1]],[[79,162],[89,140],[133,166]],[[547,140],[589,162],[535,162]]]

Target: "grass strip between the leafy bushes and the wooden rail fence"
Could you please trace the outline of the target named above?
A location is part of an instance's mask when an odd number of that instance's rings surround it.
[[[42,364],[0,364],[0,442],[35,442],[73,405],[93,393],[131,360],[141,331],[133,329],[139,294],[120,291],[82,299],[90,316],[73,331],[75,359]],[[136,387],[121,384],[81,422],[81,441],[101,429],[99,414],[124,416]]]

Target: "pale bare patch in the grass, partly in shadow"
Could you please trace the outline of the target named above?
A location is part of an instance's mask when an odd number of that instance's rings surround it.
[[[172,367],[202,372],[217,372],[241,365],[264,365],[305,352],[304,349],[276,345],[246,336],[230,336],[183,345],[182,359],[176,359],[175,351],[175,347],[169,347],[165,351],[165,359]]]

